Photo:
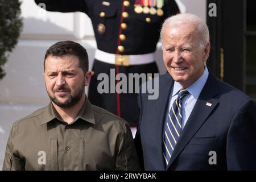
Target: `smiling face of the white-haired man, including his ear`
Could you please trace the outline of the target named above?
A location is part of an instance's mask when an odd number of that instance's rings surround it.
[[[193,24],[164,28],[162,43],[164,65],[175,81],[187,88],[203,75],[210,44],[200,47]]]

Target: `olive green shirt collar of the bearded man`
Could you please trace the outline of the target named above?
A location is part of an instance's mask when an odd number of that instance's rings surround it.
[[[52,102],[49,102],[48,106],[46,107],[46,110],[44,111],[43,118],[41,121],[41,125],[44,125],[45,123],[48,123],[52,121],[53,119],[57,118],[59,121],[61,119],[58,117],[58,114],[56,113],[57,111],[52,105]],[[90,104],[90,101],[86,97],[86,100],[84,102],[84,105],[82,105],[81,110],[79,111],[79,114],[77,114],[77,117],[74,119],[74,122],[77,121],[77,119],[81,119],[81,121],[86,121],[92,124],[95,124],[95,118],[94,118],[94,113],[92,109],[92,104]],[[72,124],[70,123],[70,124]]]

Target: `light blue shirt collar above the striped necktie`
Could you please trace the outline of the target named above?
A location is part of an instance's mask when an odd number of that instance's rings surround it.
[[[196,99],[199,98],[199,95],[202,89],[204,88],[205,83],[207,82],[208,75],[209,75],[209,71],[207,66],[205,66],[203,75],[196,82],[194,82],[192,85],[190,85],[187,88],[189,94],[191,94],[194,98]],[[179,82],[174,81],[174,89],[172,91],[172,97],[174,97],[177,94],[177,92],[179,92],[179,90],[182,88],[183,86],[181,86]]]

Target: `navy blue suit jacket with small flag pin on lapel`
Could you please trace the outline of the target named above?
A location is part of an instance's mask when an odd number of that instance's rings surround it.
[[[163,125],[174,80],[159,77],[159,97],[138,96],[141,111],[135,144],[146,170],[256,169],[256,107],[246,94],[218,80],[208,80],[181,132],[167,168],[163,159]],[[212,106],[207,106],[207,102]],[[209,105],[209,104],[208,104]],[[210,164],[216,152],[217,164]],[[211,159],[210,159],[211,160]],[[211,160],[212,161],[212,160]]]

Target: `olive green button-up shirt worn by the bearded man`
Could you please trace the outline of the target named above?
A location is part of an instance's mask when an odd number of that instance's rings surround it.
[[[61,121],[51,102],[16,121],[3,170],[138,170],[129,125],[86,98],[77,118]]]

